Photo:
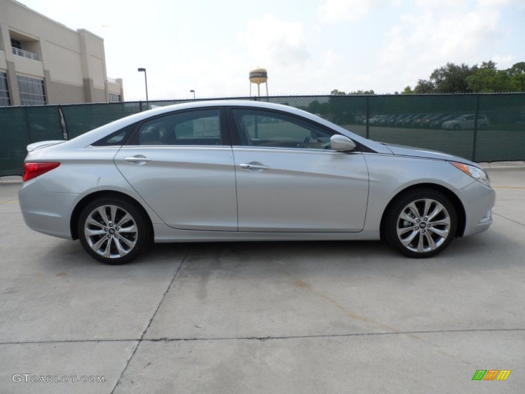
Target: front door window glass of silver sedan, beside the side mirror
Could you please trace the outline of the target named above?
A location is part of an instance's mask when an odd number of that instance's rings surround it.
[[[234,109],[233,114],[241,145],[330,149],[334,133],[313,123],[264,110]]]

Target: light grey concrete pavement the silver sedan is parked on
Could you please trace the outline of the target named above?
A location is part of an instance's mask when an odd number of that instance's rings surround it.
[[[20,184],[2,184],[0,392],[522,392],[525,169],[489,173],[490,230],[427,260],[380,242],[204,243],[106,266],[29,230]]]

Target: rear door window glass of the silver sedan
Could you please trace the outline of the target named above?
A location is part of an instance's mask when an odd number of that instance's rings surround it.
[[[140,145],[224,145],[220,111],[177,112],[146,121],[139,129]]]

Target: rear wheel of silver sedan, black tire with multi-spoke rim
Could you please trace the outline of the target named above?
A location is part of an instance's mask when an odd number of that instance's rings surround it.
[[[100,212],[106,215],[105,219]],[[88,217],[90,223],[87,223]],[[98,198],[80,213],[77,223],[80,244],[91,257],[104,264],[129,263],[148,247],[151,234],[148,220],[134,203],[125,199]],[[88,232],[92,233],[88,235]]]

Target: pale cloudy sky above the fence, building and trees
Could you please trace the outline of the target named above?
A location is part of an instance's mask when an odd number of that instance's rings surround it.
[[[19,0],[104,39],[125,100],[414,87],[447,62],[525,61],[525,0]],[[266,92],[265,88],[261,87]],[[257,90],[252,86],[252,95]]]

